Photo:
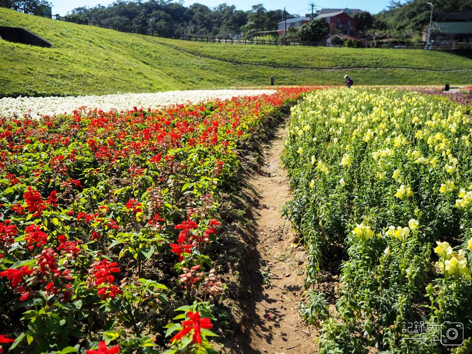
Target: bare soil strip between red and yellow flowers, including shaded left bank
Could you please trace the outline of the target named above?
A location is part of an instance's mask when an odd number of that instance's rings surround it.
[[[234,302],[227,304],[236,329],[232,338],[224,335],[224,343],[217,347],[220,352],[318,352],[318,331],[298,314],[298,302],[306,293],[305,247],[303,242],[297,244],[289,220],[281,213],[290,198],[288,177],[280,161],[285,123],[274,130],[274,139],[258,147],[256,161],[254,156],[245,157],[246,164],[252,164],[252,173],[246,171],[241,198],[246,222],[233,228],[245,244],[245,259],[241,264],[229,264],[230,274],[238,278],[228,282]]]

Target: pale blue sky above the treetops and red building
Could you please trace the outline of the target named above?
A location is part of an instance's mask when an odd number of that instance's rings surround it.
[[[145,0],[144,0],[145,1]],[[59,14],[64,16],[68,11],[75,9],[77,7],[88,6],[95,7],[97,5],[108,6],[112,4],[113,0],[49,0],[53,4],[53,14]],[[250,10],[252,5],[263,4],[267,10],[277,10],[286,8],[287,12],[290,14],[299,14],[301,16],[311,12],[310,3],[315,4],[315,9],[322,8],[334,8],[334,9],[361,9],[370,12],[371,14],[376,14],[389,5],[388,0],[321,0],[320,3],[310,0],[291,0],[291,1],[282,1],[282,0],[184,0],[184,6],[190,6],[194,3],[199,3],[206,5],[210,8],[216,7],[220,4],[226,3],[228,5],[235,5],[238,10]]]

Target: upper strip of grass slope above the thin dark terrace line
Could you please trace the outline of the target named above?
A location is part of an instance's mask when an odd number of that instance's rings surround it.
[[[173,40],[159,41],[209,58],[244,63],[303,68],[424,68],[427,70],[472,69],[472,61],[446,52],[404,49],[355,49],[300,46],[254,46]]]

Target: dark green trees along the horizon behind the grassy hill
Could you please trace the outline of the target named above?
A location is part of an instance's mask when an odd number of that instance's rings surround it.
[[[443,19],[446,13],[472,12],[470,0],[432,0],[433,21]],[[49,5],[45,0],[0,0],[1,7],[27,8],[37,11]],[[53,9],[54,12],[54,9]],[[360,39],[397,39],[420,41],[421,33],[430,21],[431,7],[424,0],[391,0],[389,6],[378,14],[369,12],[353,16],[356,20],[355,36]],[[112,5],[78,7],[67,17],[81,21],[108,23],[127,27],[134,31],[154,31],[162,35],[190,34],[197,36],[235,38],[253,35],[278,36],[278,22],[295,16],[283,10],[266,10],[262,4],[252,6],[249,11],[237,10],[234,5],[221,4],[214,8],[195,3],[189,7],[183,2],[171,0],[117,0]],[[472,16],[470,17],[472,18]],[[469,18],[469,19],[470,19]],[[445,20],[448,20],[447,18]],[[294,30],[289,28],[288,38],[304,41],[321,41],[329,36],[324,20],[315,20]]]

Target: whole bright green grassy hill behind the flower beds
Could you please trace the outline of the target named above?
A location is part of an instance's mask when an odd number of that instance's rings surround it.
[[[76,25],[0,8],[53,48],[0,40],[0,97],[156,92],[276,84],[470,84],[472,60],[421,50],[225,45]]]

